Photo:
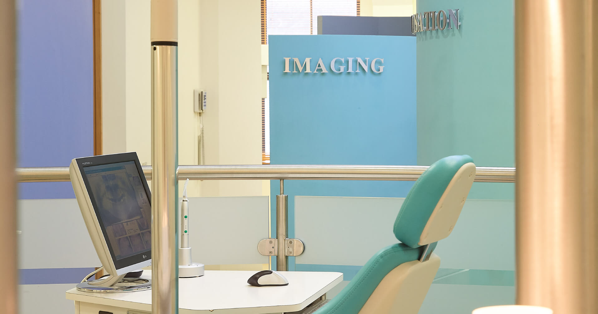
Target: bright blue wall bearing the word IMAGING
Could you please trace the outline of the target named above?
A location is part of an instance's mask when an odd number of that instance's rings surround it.
[[[415,52],[413,36],[270,36],[270,164],[416,164]],[[285,57],[312,57],[312,72],[283,72]],[[334,73],[328,66],[335,57],[345,58],[346,70],[347,57],[383,58],[385,67],[382,73]],[[314,72],[319,58],[328,73]],[[292,59],[289,66],[292,71]],[[297,195],[403,198],[411,186],[413,181],[286,180],[288,236],[295,236]],[[279,193],[273,181],[271,195]],[[276,199],[271,201],[274,215]],[[273,234],[274,228],[273,221]]]

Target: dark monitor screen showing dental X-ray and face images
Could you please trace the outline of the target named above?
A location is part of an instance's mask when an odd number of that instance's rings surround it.
[[[151,205],[135,161],[83,165],[91,203],[115,266],[151,250]],[[147,254],[149,255],[149,253]],[[144,256],[144,258],[146,258]]]

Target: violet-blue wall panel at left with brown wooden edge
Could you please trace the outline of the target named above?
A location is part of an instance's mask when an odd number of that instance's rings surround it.
[[[93,155],[93,3],[19,0],[19,167]],[[19,199],[74,198],[70,182],[19,184]]]

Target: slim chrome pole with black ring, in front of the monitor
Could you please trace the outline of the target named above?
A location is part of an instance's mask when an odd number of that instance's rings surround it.
[[[176,0],[151,1],[152,313],[178,313]]]

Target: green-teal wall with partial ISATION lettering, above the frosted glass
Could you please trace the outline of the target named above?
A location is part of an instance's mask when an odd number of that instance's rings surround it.
[[[417,33],[417,164],[468,154],[515,167],[512,0],[418,0],[418,13],[460,9],[459,30]],[[475,183],[469,198],[513,199],[514,184]]]

